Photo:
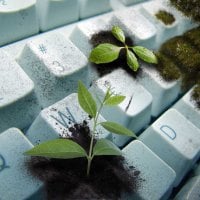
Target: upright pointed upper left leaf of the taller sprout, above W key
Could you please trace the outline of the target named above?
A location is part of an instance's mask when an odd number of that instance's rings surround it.
[[[86,113],[88,113],[92,117],[96,116],[96,102],[81,81],[78,82],[78,101],[80,106]]]

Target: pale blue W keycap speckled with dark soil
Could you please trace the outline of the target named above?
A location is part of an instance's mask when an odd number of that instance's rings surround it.
[[[80,108],[77,94],[73,93],[42,110],[28,129],[26,136],[34,145],[56,139],[59,136],[70,137],[69,128],[75,124],[83,123],[84,120],[92,129],[93,121]],[[105,120],[101,117],[100,121]],[[112,139],[111,135],[100,126],[98,126],[97,131],[100,137]]]

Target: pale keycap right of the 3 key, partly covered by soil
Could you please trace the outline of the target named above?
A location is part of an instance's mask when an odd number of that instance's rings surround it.
[[[92,36],[101,31],[109,30],[108,24],[104,19],[105,18],[94,18],[79,22],[69,36],[69,39],[86,55],[86,57],[89,57],[92,49],[92,44],[90,42]]]

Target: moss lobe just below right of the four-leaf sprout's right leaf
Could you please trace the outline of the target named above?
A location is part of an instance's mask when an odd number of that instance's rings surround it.
[[[162,53],[157,53],[156,56],[158,58],[156,68],[166,81],[173,81],[180,78],[180,69],[171,59]]]

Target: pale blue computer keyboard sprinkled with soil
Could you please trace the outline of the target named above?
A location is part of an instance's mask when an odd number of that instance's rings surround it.
[[[155,14],[175,17],[164,24]],[[0,200],[39,200],[44,184],[23,153],[65,136],[88,116],[77,101],[81,80],[93,94],[108,86],[126,96],[105,108],[101,120],[118,122],[138,139],[100,128],[122,149],[144,181],[122,200],[200,199],[200,110],[180,79],[165,81],[150,64],[142,77],[123,68],[99,75],[88,56],[95,33],[120,26],[136,45],[157,51],[170,38],[198,26],[167,0],[0,0]]]

